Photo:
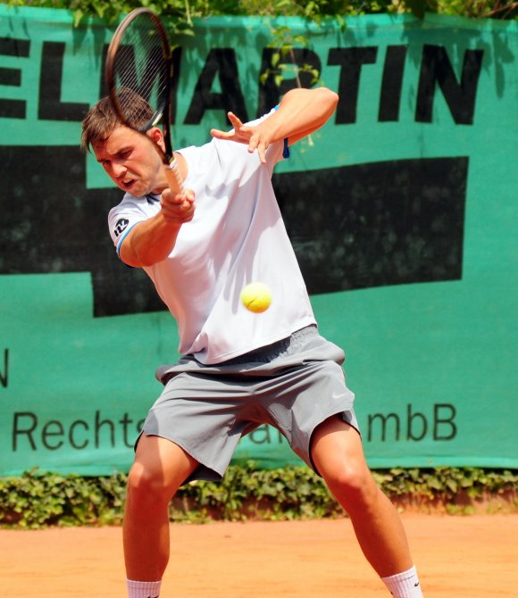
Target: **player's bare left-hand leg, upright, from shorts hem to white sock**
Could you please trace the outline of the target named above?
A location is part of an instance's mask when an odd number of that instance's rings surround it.
[[[198,463],[177,444],[142,435],[129,471],[123,543],[128,579],[159,581],[169,561],[169,502]],[[135,594],[137,595],[137,594]]]

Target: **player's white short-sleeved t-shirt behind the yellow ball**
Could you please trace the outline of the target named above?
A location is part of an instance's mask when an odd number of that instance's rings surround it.
[[[176,245],[147,275],[177,321],[182,354],[218,363],[286,338],[314,324],[305,282],[272,189],[282,142],[267,151],[267,164],[246,145],[213,139],[180,150],[188,163],[185,187],[194,189],[193,220]],[[108,217],[114,245],[130,228],[161,209],[160,197],[126,194]],[[267,311],[248,311],[239,299],[250,282],[272,290]]]

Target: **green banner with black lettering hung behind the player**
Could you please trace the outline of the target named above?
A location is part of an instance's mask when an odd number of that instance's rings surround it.
[[[280,27],[307,43],[275,63]],[[121,192],[78,148],[112,34],[0,5],[0,475],[129,469],[155,367],[178,357],[151,283],[114,253]],[[371,466],[518,467],[517,24],[229,17],[176,42],[176,146],[314,73],[340,96],[274,185]],[[300,462],[268,427],[236,459]]]

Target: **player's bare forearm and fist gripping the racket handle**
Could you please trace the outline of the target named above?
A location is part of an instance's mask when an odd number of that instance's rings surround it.
[[[160,203],[161,211],[131,228],[122,241],[119,255],[129,266],[143,268],[165,260],[176,244],[181,226],[194,217],[194,192],[190,189],[179,195],[164,189]]]

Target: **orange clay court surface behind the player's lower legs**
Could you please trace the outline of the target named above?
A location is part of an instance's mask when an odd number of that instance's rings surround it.
[[[402,516],[427,598],[518,596],[518,514]],[[118,527],[0,529],[0,595],[125,598]],[[348,519],[171,525],[161,598],[388,596]]]

